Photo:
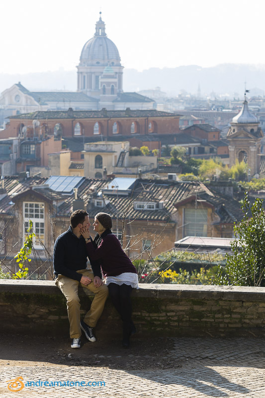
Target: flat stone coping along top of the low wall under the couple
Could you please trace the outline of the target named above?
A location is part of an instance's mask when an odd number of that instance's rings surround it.
[[[81,289],[82,291],[82,289]],[[0,294],[61,295],[54,281],[0,280]],[[81,293],[82,294],[82,293]],[[93,294],[91,293],[91,296]],[[213,298],[223,300],[265,301],[265,288],[245,286],[140,284],[133,297]]]

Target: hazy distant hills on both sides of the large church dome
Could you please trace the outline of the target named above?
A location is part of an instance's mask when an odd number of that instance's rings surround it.
[[[9,75],[0,73],[0,92],[21,82],[28,90],[76,91],[76,71],[65,71],[60,68],[54,72],[28,73],[24,75]],[[124,69],[123,90],[134,92],[138,90],[161,90],[169,96],[176,96],[180,90],[196,94],[198,85],[202,95],[229,94],[242,97],[245,89],[257,88],[257,93],[265,93],[265,65],[220,64],[211,68],[202,68],[197,65],[179,66],[177,68],[150,68],[139,72],[135,69]],[[251,95],[256,95],[254,92]]]

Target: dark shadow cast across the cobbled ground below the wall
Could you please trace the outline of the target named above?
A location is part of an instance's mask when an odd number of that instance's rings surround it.
[[[81,348],[71,349],[70,339],[65,338],[0,335],[0,345],[0,365],[6,367],[108,368],[155,382],[156,388],[184,386],[209,397],[231,397],[231,393],[248,397],[251,390],[236,369],[252,368],[247,373],[264,369],[265,355],[263,339],[243,338],[134,338],[130,349],[123,349],[119,340],[91,343],[83,335]],[[230,369],[224,372],[224,368]]]

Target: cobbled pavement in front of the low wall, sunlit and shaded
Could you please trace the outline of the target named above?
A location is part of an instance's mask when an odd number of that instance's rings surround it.
[[[265,398],[260,338],[134,339],[129,350],[118,341],[84,341],[80,350],[71,350],[67,339],[0,336],[0,346],[2,398]],[[18,377],[25,387],[9,391],[8,381]],[[43,385],[28,387],[29,381]],[[17,381],[13,390],[20,387]]]

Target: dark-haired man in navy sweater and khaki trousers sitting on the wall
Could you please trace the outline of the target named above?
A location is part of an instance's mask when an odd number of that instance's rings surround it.
[[[70,224],[69,229],[59,235],[54,244],[53,267],[57,277],[55,284],[67,299],[71,347],[80,348],[81,329],[89,341],[96,341],[92,328],[103,311],[108,288],[101,280],[101,270],[97,262],[90,262],[93,273],[87,269],[88,238],[84,239],[80,231],[90,226],[88,213],[84,210],[74,211],[70,217]],[[79,286],[85,288],[86,294],[95,294],[91,307],[81,322]]]

